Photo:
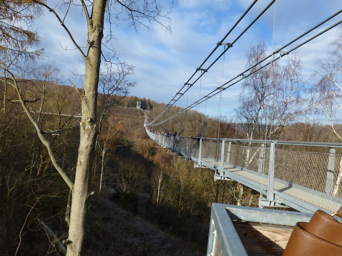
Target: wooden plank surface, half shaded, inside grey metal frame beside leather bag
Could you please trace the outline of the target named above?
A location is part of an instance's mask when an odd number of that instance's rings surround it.
[[[293,227],[233,221],[248,256],[281,256]]]

